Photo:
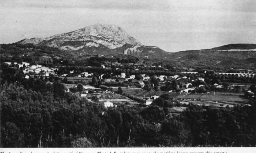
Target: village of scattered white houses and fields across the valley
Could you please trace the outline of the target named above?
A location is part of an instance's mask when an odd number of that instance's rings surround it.
[[[207,71],[194,72],[193,70],[167,75],[150,74],[127,74],[125,72],[97,73],[80,72],[70,70],[65,74],[60,74],[59,68],[51,68],[42,65],[30,65],[30,63],[5,62],[8,66],[22,69],[24,78],[58,77],[65,85],[66,92],[76,94],[82,98],[87,98],[91,103],[103,104],[105,107],[117,107],[118,105],[152,105],[153,103],[161,107],[168,106],[170,112],[179,113],[190,103],[196,105],[212,105],[215,107],[233,107],[234,105],[250,105],[250,100],[243,96],[249,95],[250,99],[255,98],[254,92],[249,89],[249,84],[237,83],[206,83]],[[111,66],[122,66],[120,63],[111,63]],[[134,71],[143,68],[161,68],[169,71],[164,66],[136,65]],[[93,68],[87,66],[88,69]],[[101,65],[101,69],[118,70]],[[185,69],[187,70],[187,69]],[[248,71],[247,71],[248,72]],[[249,72],[252,72],[250,70]],[[255,77],[255,73],[214,73],[218,76]],[[51,83],[51,82],[50,82]],[[78,86],[82,85],[82,89]],[[166,98],[167,97],[167,98]],[[159,102],[160,101],[160,102]]]

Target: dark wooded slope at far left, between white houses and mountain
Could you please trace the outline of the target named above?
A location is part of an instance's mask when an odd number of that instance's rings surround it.
[[[1,62],[28,62],[31,65],[59,66],[61,61],[72,59],[68,52],[62,52],[58,48],[47,46],[35,46],[33,44],[1,44]],[[47,56],[49,58],[43,57]]]

